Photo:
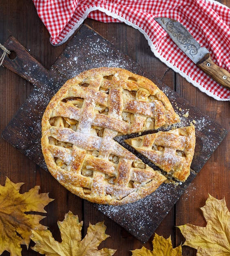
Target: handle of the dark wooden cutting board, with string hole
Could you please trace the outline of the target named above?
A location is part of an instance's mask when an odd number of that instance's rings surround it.
[[[7,54],[2,65],[20,75],[37,88],[48,83],[49,72],[13,36],[4,43],[11,54]]]

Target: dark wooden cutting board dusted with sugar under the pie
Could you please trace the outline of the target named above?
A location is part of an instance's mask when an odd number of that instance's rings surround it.
[[[122,67],[146,76],[168,96],[181,117],[181,126],[195,124],[195,156],[191,165],[191,175],[184,184],[162,184],[157,191],[146,198],[124,206],[93,204],[130,234],[146,242],[219,146],[227,133],[226,130],[203,115],[161,81],[146,74],[139,64],[86,25],[82,25],[75,33],[49,70],[38,63],[15,38],[8,38],[4,46],[16,54],[14,59],[5,58],[4,67],[33,83],[34,89],[2,132],[2,138],[46,171],[40,146],[43,112],[51,97],[65,81],[84,70],[102,66]]]

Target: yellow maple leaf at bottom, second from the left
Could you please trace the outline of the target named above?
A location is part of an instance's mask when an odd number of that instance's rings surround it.
[[[104,222],[95,225],[89,223],[87,234],[82,239],[83,221],[79,222],[78,216],[71,211],[65,214],[64,220],[57,222],[60,229],[62,242],[54,240],[52,233],[33,230],[31,239],[35,242],[33,250],[46,256],[112,256],[116,250],[97,247],[106,240],[109,235],[105,234],[106,226]]]

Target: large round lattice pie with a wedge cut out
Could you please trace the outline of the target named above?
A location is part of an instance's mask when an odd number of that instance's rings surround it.
[[[50,173],[81,198],[135,202],[166,178],[113,137],[178,121],[152,81],[120,68],[96,68],[67,81],[51,99],[42,118],[42,152]]]

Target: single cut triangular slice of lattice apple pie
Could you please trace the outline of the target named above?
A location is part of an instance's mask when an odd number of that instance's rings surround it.
[[[190,174],[195,141],[195,126],[159,131],[125,140],[156,166],[182,182]]]

